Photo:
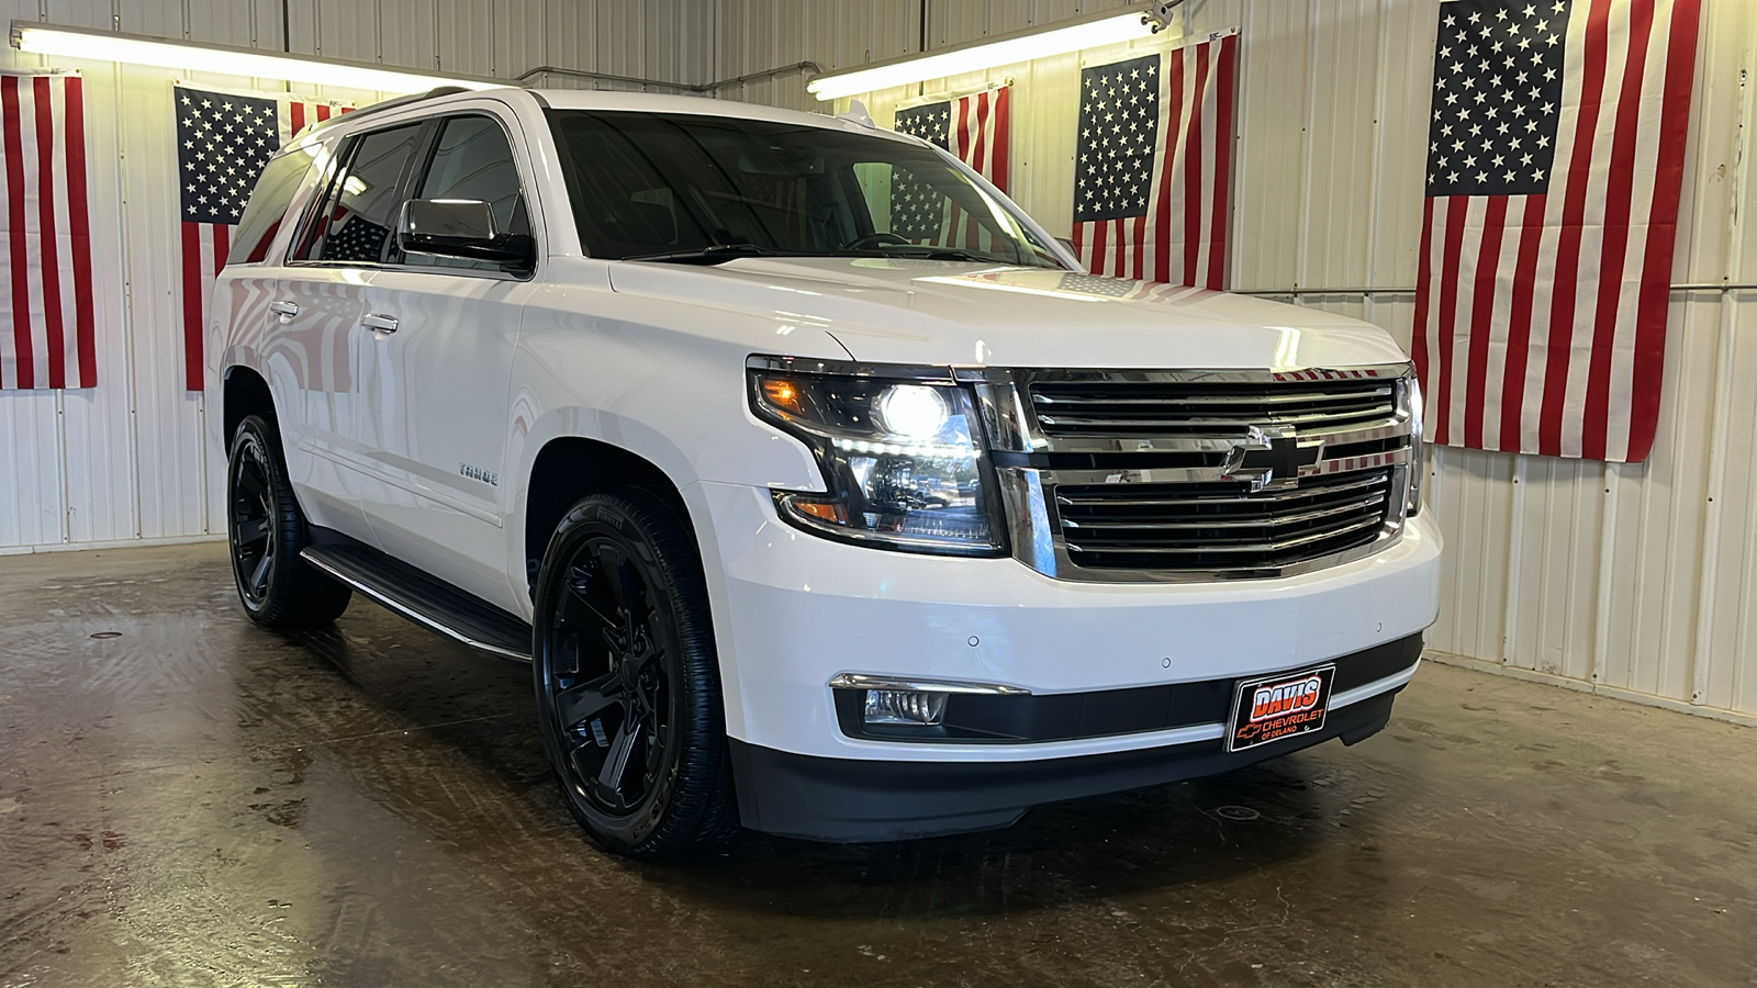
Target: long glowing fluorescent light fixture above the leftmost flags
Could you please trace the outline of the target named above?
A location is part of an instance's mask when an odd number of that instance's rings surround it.
[[[162,69],[192,69],[200,72],[220,72],[223,76],[285,79],[288,83],[344,86],[350,90],[372,90],[380,93],[420,93],[432,90],[434,86],[492,90],[510,84],[501,79],[432,76],[427,72],[404,72],[362,62],[304,58],[299,54],[281,54],[278,51],[258,51],[255,47],[200,44],[88,28],[63,28],[56,25],[39,25],[35,21],[12,21],[12,47],[32,54],[58,54],[63,58],[86,58],[95,62],[125,62],[130,65],[158,65]]]

